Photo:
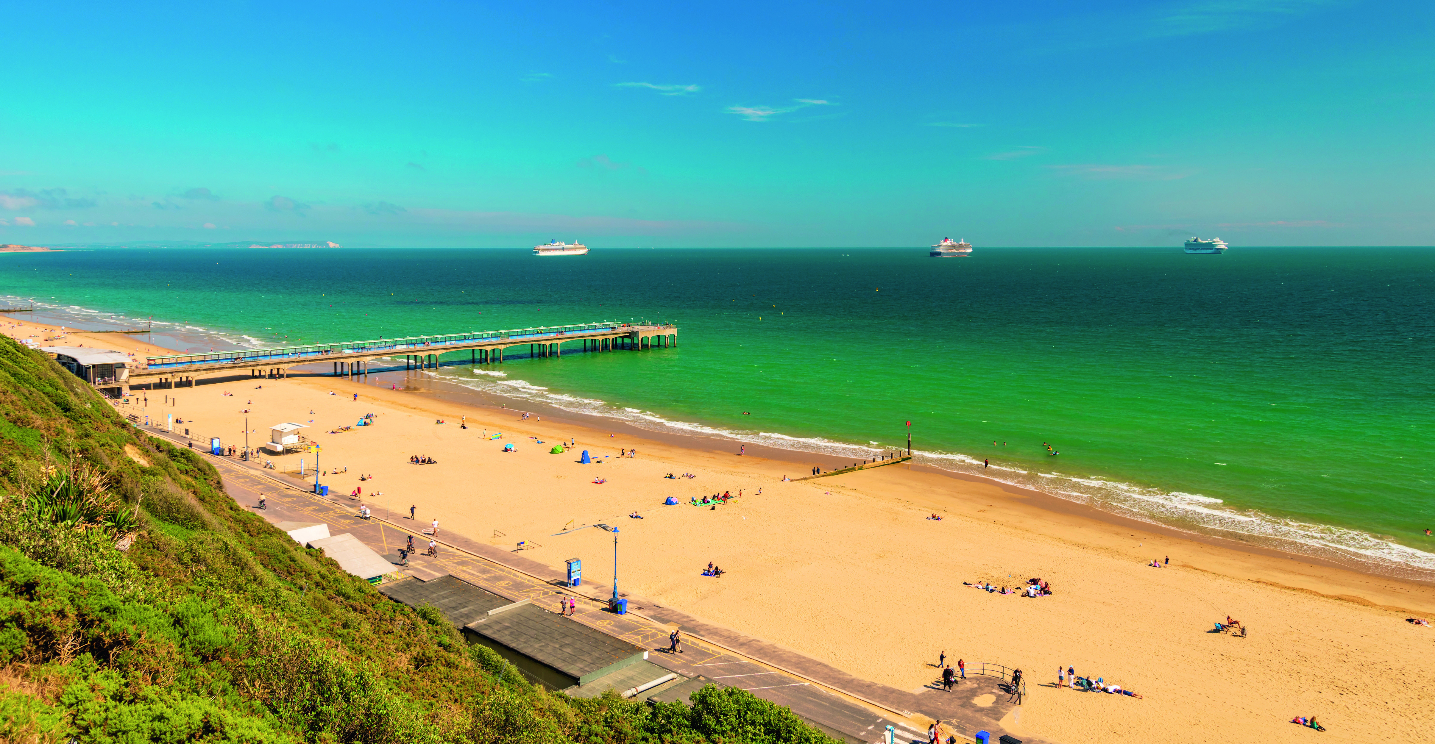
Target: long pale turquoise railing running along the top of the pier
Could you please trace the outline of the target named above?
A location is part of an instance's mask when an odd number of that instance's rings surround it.
[[[620,321],[581,323],[571,325],[540,325],[535,328],[514,328],[508,331],[474,331],[438,335],[409,335],[403,338],[377,338],[372,341],[339,341],[331,344],[301,344],[277,348],[245,348],[234,351],[211,351],[207,354],[169,354],[145,357],[149,370],[189,367],[197,364],[235,364],[241,361],[288,361],[321,358],[330,354],[364,354],[382,351],[423,351],[445,345],[474,344],[484,341],[522,341],[530,338],[558,338],[584,331],[611,331],[624,327]],[[631,325],[630,325],[631,327]],[[663,327],[674,327],[664,324]]]

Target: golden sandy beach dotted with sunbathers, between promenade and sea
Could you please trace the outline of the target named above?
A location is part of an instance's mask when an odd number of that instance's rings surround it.
[[[7,334],[49,344],[43,328],[6,321]],[[63,341],[79,343],[161,353],[118,334]],[[174,413],[185,420],[179,427],[225,444],[244,444],[245,419],[251,446],[271,424],[306,424],[323,446],[320,479],[331,493],[362,487],[356,506],[406,513],[413,505],[418,526],[438,519],[442,532],[492,545],[525,540],[532,548],[524,556],[551,566],[580,556],[598,582],[613,579],[613,535],[557,533],[618,526],[623,592],[857,677],[917,690],[938,675],[943,651],[967,664],[1020,667],[1030,697],[1020,718],[1004,721],[1015,733],[1068,743],[1306,741],[1317,734],[1289,721],[1317,715],[1329,741],[1429,738],[1422,721],[1435,695],[1424,679],[1435,629],[1405,619],[1435,615],[1428,583],[1197,539],[907,464],[784,482],[832,462],[753,446],[738,454],[735,442],[550,411],[522,420],[464,403],[422,373],[364,384],[296,370],[288,380],[199,380],[135,397],[141,404],[125,413]],[[375,426],[330,433],[370,413]],[[573,449],[550,453],[568,442]],[[620,456],[633,449],[636,457]],[[583,450],[601,464],[580,464]],[[410,464],[416,454],[436,464]],[[274,460],[297,472],[300,459],[313,467],[311,457]],[[663,477],[684,472],[697,477]],[[742,497],[716,509],[687,505],[723,492]],[[667,496],[683,503],[662,506]],[[1148,565],[1167,558],[1165,568]],[[702,576],[709,561],[728,573]],[[1016,588],[1029,578],[1046,579],[1053,593],[1030,599],[966,585]],[[1227,615],[1248,635],[1208,632]],[[1144,700],[1058,688],[1056,671],[1066,667]]]

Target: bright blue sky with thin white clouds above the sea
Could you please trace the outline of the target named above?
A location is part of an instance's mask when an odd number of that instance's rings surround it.
[[[1435,244],[1429,3],[682,6],[13,6],[0,242]]]

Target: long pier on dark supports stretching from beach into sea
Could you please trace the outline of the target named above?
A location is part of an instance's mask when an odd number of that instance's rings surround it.
[[[169,354],[146,357],[145,368],[129,371],[129,381],[131,386],[149,384],[155,388],[166,388],[194,386],[198,377],[232,376],[238,370],[248,370],[251,377],[283,378],[288,376],[290,367],[316,361],[331,363],[336,376],[362,377],[369,374],[369,363],[376,358],[402,358],[406,370],[426,370],[438,367],[439,357],[443,354],[468,351],[471,364],[502,364],[504,351],[514,347],[527,345],[530,357],[561,357],[565,344],[568,345],[567,351],[584,353],[672,347],[677,345],[677,325],[633,325],[603,321],[507,331]],[[574,348],[575,345],[577,348]]]

